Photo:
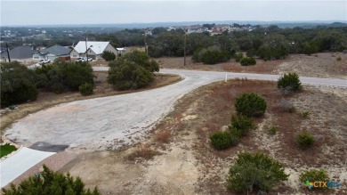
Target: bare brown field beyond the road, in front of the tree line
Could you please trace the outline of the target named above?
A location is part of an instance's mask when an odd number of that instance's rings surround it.
[[[337,61],[337,57],[341,61]],[[214,71],[252,72],[262,74],[284,74],[296,72],[303,77],[336,77],[347,79],[347,53],[316,53],[311,56],[305,54],[290,54],[286,60],[262,61],[257,60],[254,66],[241,66],[231,59],[215,65],[193,63],[191,57],[186,58],[183,66],[182,57],[163,57],[155,59],[161,68],[166,69],[202,69]]]

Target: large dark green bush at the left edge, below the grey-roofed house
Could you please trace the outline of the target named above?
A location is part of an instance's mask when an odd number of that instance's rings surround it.
[[[20,62],[1,63],[1,107],[34,101],[37,97],[35,73]]]

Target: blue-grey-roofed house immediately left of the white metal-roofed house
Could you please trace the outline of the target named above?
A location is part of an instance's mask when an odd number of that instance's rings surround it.
[[[54,61],[57,58],[69,60],[70,52],[71,50],[64,46],[54,45],[34,53],[33,60],[39,61],[39,60],[47,59],[47,60]]]

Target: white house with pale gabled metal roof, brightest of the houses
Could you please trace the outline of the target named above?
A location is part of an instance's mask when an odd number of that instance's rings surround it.
[[[109,51],[117,55],[117,50],[109,44],[109,42],[100,41],[80,41],[70,52],[70,57],[76,59],[79,57],[85,57],[85,52],[88,54],[88,58],[93,58],[93,60],[101,59],[101,53],[104,51]]]

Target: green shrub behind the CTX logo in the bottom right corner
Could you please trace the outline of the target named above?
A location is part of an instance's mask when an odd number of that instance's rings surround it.
[[[329,176],[327,175],[327,171],[324,169],[320,170],[311,170],[311,171],[304,171],[299,175],[299,181],[303,183],[303,185],[306,187],[307,184],[314,183],[314,182],[328,182]],[[314,189],[314,186],[313,186]],[[313,190],[312,189],[312,190]],[[327,189],[327,187],[319,187],[318,189]]]

